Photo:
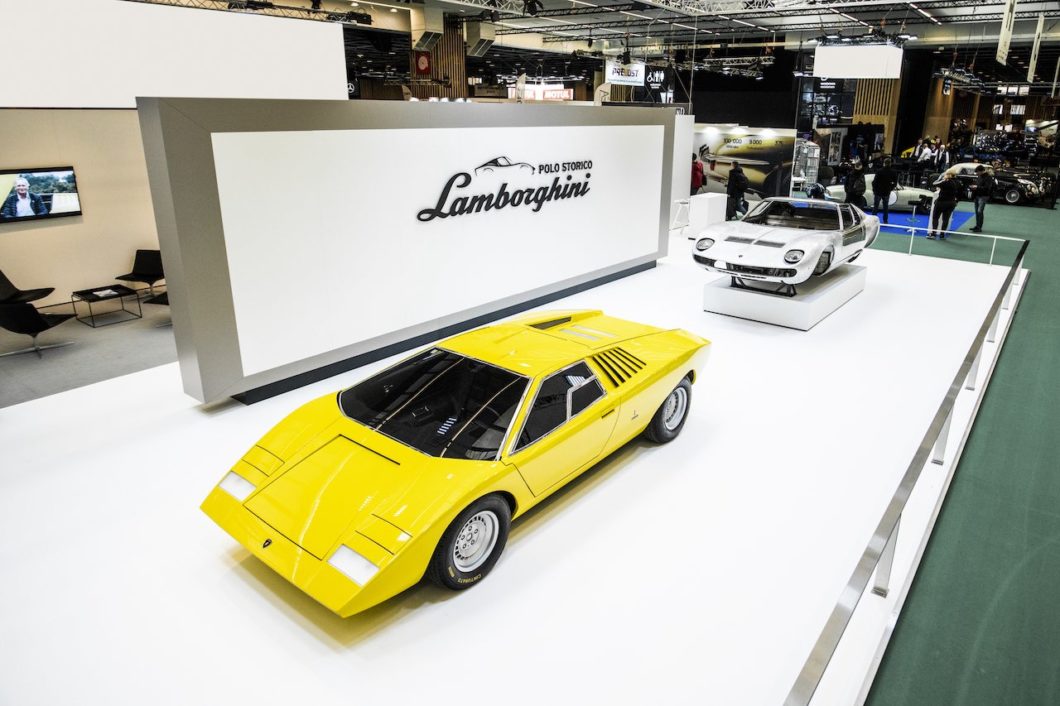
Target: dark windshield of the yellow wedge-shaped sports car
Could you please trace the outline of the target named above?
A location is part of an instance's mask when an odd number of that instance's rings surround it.
[[[497,457],[528,380],[430,349],[339,393],[342,413],[439,458]]]

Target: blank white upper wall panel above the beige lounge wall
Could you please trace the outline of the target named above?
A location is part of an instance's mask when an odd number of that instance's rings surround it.
[[[3,0],[0,36],[2,107],[132,108],[138,95],[347,98],[335,22],[123,0]],[[15,57],[26,61],[25,80],[14,77]]]

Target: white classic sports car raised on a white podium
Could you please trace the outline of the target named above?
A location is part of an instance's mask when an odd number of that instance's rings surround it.
[[[805,198],[766,198],[743,220],[714,224],[700,233],[692,258],[712,272],[779,284],[775,293],[795,295],[795,285],[853,262],[872,244],[880,220],[849,204]],[[759,287],[756,287],[759,288]]]

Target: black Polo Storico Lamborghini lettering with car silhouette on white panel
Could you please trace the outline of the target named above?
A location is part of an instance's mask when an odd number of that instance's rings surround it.
[[[416,217],[426,223],[509,207],[530,207],[536,213],[549,201],[581,198],[588,194],[591,169],[591,159],[534,165],[497,157],[476,166],[474,176],[469,172],[454,174],[442,189],[435,207],[423,209]],[[553,174],[551,183],[547,183],[548,176]],[[500,184],[493,187],[498,180]],[[489,191],[483,193],[480,188],[479,193],[473,193],[477,184]]]

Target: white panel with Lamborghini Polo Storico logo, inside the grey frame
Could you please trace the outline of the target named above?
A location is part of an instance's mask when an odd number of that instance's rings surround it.
[[[244,374],[656,252],[664,131],[214,134]]]

